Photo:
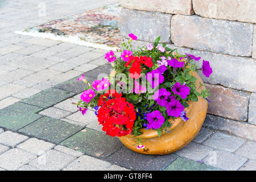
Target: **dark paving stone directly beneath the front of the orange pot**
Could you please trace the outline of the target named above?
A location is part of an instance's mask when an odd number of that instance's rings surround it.
[[[131,151],[125,146],[110,155],[106,160],[118,166],[138,171],[159,171],[177,158],[176,155],[144,155]]]

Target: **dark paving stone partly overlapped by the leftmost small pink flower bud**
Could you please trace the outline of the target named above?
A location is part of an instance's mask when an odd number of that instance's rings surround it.
[[[75,78],[72,78],[71,80],[55,85],[54,87],[58,89],[74,92],[74,93],[81,93],[82,91],[85,90],[85,88],[87,88],[88,85],[85,84],[84,81],[77,81],[79,77],[80,76],[77,76]],[[95,78],[92,78],[92,77],[85,77],[85,78],[89,83],[92,83],[92,81],[95,80]]]

